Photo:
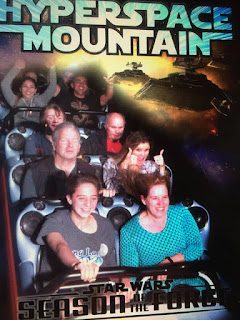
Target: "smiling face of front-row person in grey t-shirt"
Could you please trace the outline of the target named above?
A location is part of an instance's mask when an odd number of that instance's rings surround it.
[[[86,219],[96,209],[98,190],[92,183],[82,183],[75,189],[72,196],[67,195],[67,201],[72,207],[72,214]]]

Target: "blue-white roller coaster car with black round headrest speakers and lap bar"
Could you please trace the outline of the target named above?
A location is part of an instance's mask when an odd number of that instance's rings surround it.
[[[16,140],[22,144],[23,139],[18,135],[26,138],[24,134],[31,132],[30,128],[25,128],[25,131],[10,129],[3,131],[1,139],[4,146],[17,146]],[[23,134],[21,131],[24,131]],[[11,134],[15,135],[15,144],[11,143]],[[79,272],[68,272],[57,276],[43,288],[38,277],[41,248],[35,243],[35,236],[44,217],[63,204],[49,199],[33,199],[26,205],[18,196],[14,198],[14,188],[18,188],[17,194],[20,192],[22,172],[21,169],[20,173],[15,171],[16,165],[20,163],[23,166],[25,163],[22,148],[17,146],[15,149],[18,150],[13,149],[12,156],[8,156],[10,150],[7,146],[2,153],[0,182],[3,190],[1,205],[6,226],[12,319],[104,319],[133,315],[137,319],[143,315],[153,319],[159,319],[160,316],[161,319],[233,319],[226,309],[231,292],[207,259],[209,213],[191,200],[182,205],[189,208],[200,229],[205,251],[201,261],[157,268],[106,268],[100,271],[96,282],[92,284],[80,281]],[[90,157],[90,164],[91,161],[94,165],[102,164],[97,156],[93,160]],[[97,206],[98,213],[113,222],[116,234],[122,224],[139,209],[139,204],[124,195],[102,198]],[[161,281],[157,279],[159,275],[168,277]],[[125,296],[128,288],[124,285],[129,277],[134,292],[130,301]],[[197,285],[186,285],[184,281],[172,285],[175,279],[189,278],[198,279]]]

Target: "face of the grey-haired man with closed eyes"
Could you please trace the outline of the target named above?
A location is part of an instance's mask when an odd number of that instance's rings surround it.
[[[55,156],[63,160],[74,160],[80,150],[79,134],[73,128],[62,128],[53,144]]]

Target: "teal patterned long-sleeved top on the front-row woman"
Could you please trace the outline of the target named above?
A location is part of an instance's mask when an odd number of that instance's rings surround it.
[[[139,214],[128,221],[120,233],[120,263],[122,266],[147,267],[159,264],[166,257],[181,252],[186,261],[203,254],[197,224],[188,209],[170,205],[167,223],[159,233],[145,230]]]

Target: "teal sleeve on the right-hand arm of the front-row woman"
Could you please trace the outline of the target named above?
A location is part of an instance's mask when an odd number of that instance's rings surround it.
[[[181,250],[186,261],[193,261],[201,257],[203,254],[203,245],[198,226],[189,212],[184,208],[182,219],[182,229],[186,235],[185,248]]]

